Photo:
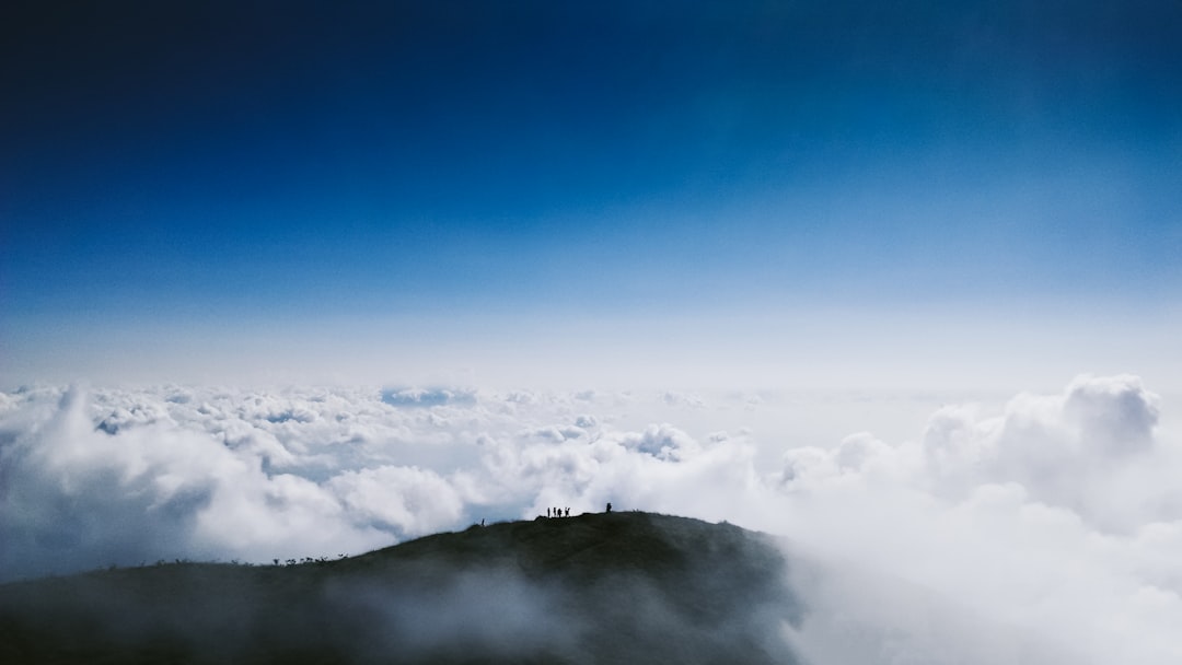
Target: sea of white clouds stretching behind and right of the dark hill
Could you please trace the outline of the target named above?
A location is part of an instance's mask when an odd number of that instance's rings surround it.
[[[831,442],[734,426],[781,406],[467,389],[0,393],[0,579],[336,558],[610,501],[785,536],[817,562],[794,582],[812,613],[785,637],[817,661],[1033,663],[1044,647],[1182,661],[1182,441],[1136,377],[949,404],[898,441],[853,419],[857,433]],[[982,644],[985,624],[1017,637]]]

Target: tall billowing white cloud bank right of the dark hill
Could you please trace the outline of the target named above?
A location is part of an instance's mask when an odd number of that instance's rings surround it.
[[[1000,415],[943,409],[914,443],[791,450],[784,532],[1073,648],[1072,661],[1176,661],[1182,640],[1164,626],[1182,625],[1182,494],[1168,478],[1182,464],[1155,437],[1157,404],[1134,377],[1080,377]],[[961,637],[908,658],[956,660]]]

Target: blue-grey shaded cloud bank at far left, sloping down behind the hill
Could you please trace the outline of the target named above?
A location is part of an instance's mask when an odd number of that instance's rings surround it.
[[[70,389],[38,397],[56,398],[57,409],[24,430],[8,418],[2,425],[6,576],[388,541],[350,521],[330,488],[265,472],[265,446],[234,450],[163,411],[113,426],[111,413],[150,411],[126,397],[130,408],[110,413],[111,396],[92,400]]]

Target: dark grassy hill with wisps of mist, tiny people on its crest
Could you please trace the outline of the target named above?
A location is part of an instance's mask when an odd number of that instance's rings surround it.
[[[729,524],[612,513],[299,566],[0,586],[13,663],[798,663],[785,561]]]

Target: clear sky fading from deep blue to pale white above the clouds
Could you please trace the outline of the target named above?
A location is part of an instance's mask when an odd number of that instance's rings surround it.
[[[5,4],[0,383],[1178,387],[1182,5],[943,5]]]

